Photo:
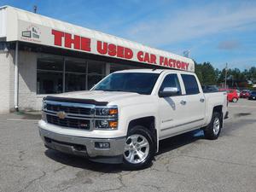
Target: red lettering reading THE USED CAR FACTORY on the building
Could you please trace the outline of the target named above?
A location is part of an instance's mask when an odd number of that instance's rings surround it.
[[[84,38],[79,35],[72,35],[70,33],[57,30],[52,30],[51,33],[54,36],[55,46],[60,46],[67,49],[77,49],[85,52],[93,52],[91,50],[92,41],[90,38]],[[166,58],[165,56],[161,55],[154,55],[142,50],[130,49],[128,47],[119,46],[117,44],[109,44],[99,40],[96,41],[96,51],[96,54],[99,55],[118,57],[125,60],[135,60],[164,67],[172,67],[182,70],[188,70],[189,67],[189,63],[184,61]]]

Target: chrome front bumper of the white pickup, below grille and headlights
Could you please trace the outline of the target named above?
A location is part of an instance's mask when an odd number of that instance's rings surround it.
[[[47,148],[67,154],[84,156],[102,163],[121,163],[125,149],[125,137],[89,138],[73,137],[47,131],[39,127],[40,137]],[[96,143],[109,143],[110,148],[96,148]]]

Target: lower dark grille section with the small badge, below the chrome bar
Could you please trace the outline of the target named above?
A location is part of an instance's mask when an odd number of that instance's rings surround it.
[[[72,127],[72,128],[77,128],[81,130],[90,130],[90,120],[88,119],[71,119],[71,118],[60,119],[50,114],[47,114],[46,117],[47,117],[47,122],[49,124]]]

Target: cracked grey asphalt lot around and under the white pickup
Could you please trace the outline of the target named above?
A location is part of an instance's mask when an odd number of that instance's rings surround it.
[[[0,114],[0,191],[256,191],[256,101],[229,106],[218,140],[172,137],[134,172],[46,149],[37,115]]]

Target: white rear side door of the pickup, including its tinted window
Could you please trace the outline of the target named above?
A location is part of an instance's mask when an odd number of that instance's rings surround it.
[[[203,92],[199,88],[199,81],[194,74],[181,74],[185,94],[183,95],[183,105],[187,109],[183,113],[184,129],[191,130],[199,128],[204,124],[206,101]]]

